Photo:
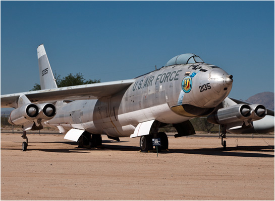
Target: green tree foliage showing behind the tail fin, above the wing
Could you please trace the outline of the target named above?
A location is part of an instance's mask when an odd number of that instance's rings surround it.
[[[73,75],[72,73],[68,74],[66,77],[60,78],[61,75],[54,74],[56,78],[56,82],[58,87],[65,87],[65,86],[76,86],[82,84],[92,84],[92,83],[99,83],[100,79],[89,79],[85,80],[82,73],[76,73]],[[35,83],[33,88],[30,91],[41,90],[40,84]]]

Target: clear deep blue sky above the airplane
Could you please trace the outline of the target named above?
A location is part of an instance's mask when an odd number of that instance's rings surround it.
[[[44,44],[61,77],[130,79],[183,53],[233,74],[231,97],[274,92],[274,2],[1,2],[1,94],[39,83]]]

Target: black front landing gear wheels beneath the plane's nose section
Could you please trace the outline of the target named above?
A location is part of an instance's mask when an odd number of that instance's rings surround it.
[[[160,146],[159,150],[167,150],[168,149],[168,137],[166,133],[159,132],[154,135],[154,138],[160,138]],[[140,137],[139,146],[141,152],[148,152],[153,149],[153,136],[152,135],[144,135]]]

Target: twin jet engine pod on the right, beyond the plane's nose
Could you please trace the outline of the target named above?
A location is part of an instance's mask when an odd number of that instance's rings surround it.
[[[228,108],[218,109],[207,117],[207,121],[212,124],[232,124],[235,122],[252,122],[265,117],[267,111],[263,105],[238,104]]]

